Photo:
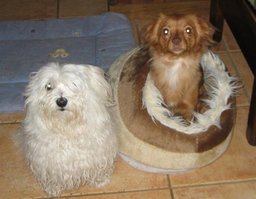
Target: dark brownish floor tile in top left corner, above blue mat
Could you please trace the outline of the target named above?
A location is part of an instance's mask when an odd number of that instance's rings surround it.
[[[0,0],[0,20],[56,18],[57,2],[57,0]]]

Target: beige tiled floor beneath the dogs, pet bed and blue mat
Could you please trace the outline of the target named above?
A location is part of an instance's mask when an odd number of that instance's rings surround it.
[[[70,3],[68,3],[70,1]],[[65,18],[61,10],[74,11],[72,0],[0,0],[0,20]],[[82,3],[81,5],[86,6]],[[79,4],[79,0],[76,2]],[[62,4],[64,3],[64,4]],[[69,8],[67,8],[69,6]],[[76,4],[77,6],[77,4]],[[165,14],[193,12],[209,17],[209,0],[110,6],[110,11],[125,13],[138,30],[159,12]],[[100,8],[101,9],[101,8]],[[63,12],[62,12],[63,11]],[[63,14],[60,14],[63,13]],[[86,7],[76,10],[75,17],[88,15]],[[118,159],[110,185],[97,189],[85,185],[77,192],[64,192],[64,199],[256,199],[256,146],[245,138],[253,74],[228,26],[216,52],[231,75],[240,77],[245,86],[237,97],[237,118],[228,150],[204,168],[181,174],[152,174],[135,170]],[[22,155],[12,137],[23,114],[0,115],[0,199],[47,198],[24,166]]]

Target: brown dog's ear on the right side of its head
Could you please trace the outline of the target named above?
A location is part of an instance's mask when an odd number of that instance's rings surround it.
[[[200,25],[200,36],[204,38],[209,46],[217,44],[217,42],[213,40],[213,34],[215,33],[216,28],[202,17],[197,16],[197,20],[198,24]]]

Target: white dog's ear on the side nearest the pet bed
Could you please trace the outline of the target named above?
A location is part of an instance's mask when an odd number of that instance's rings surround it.
[[[91,84],[96,92],[98,92],[98,96],[103,98],[107,106],[115,106],[112,88],[106,79],[104,71],[96,66],[93,66],[92,70],[94,70],[96,75],[91,78]]]

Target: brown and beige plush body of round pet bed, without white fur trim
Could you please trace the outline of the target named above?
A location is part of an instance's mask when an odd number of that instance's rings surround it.
[[[119,151],[131,160],[153,168],[184,171],[216,160],[226,150],[236,116],[235,97],[221,114],[220,125],[205,132],[185,134],[153,122],[142,109],[142,88],[149,72],[147,49],[135,48],[118,58],[108,71],[114,90]]]

